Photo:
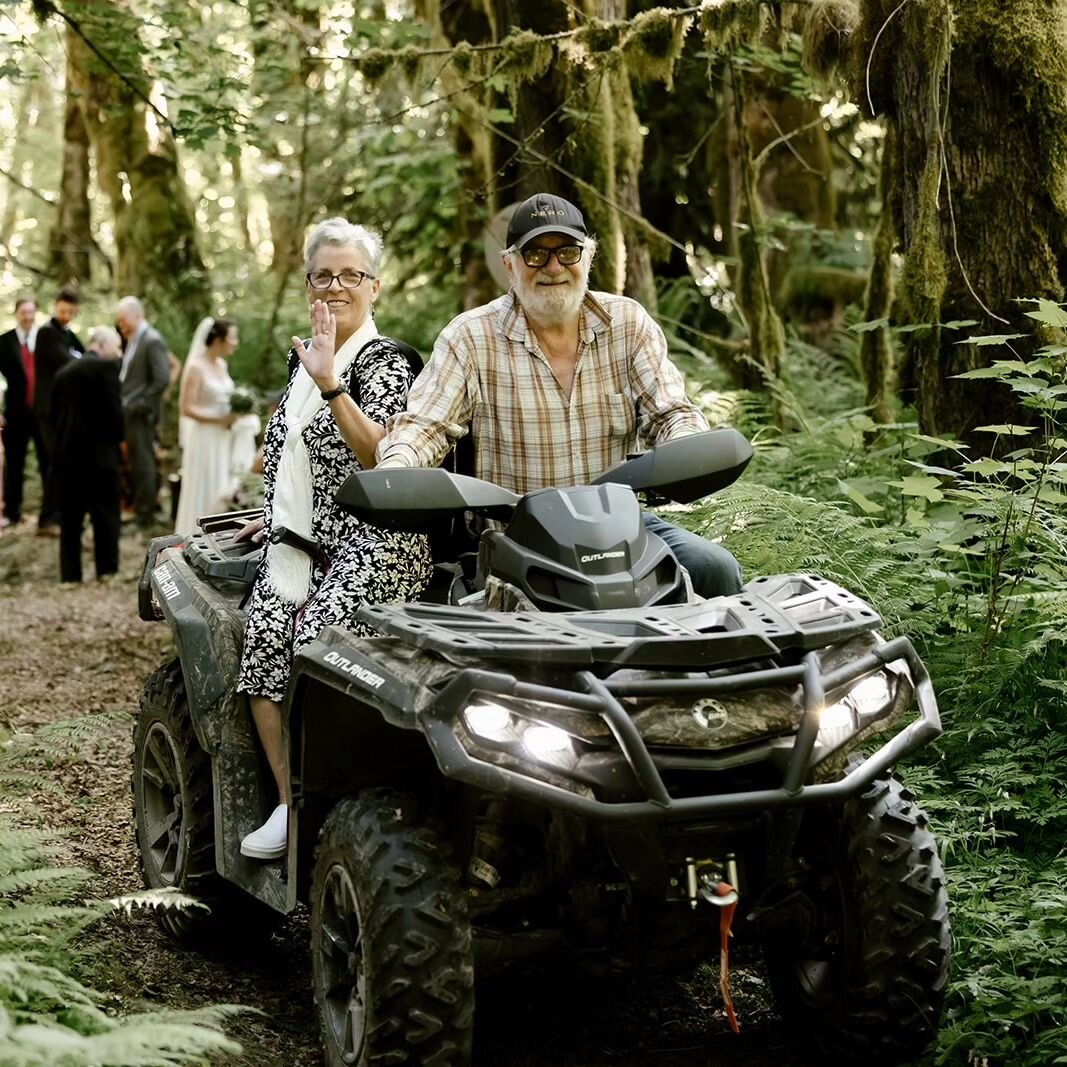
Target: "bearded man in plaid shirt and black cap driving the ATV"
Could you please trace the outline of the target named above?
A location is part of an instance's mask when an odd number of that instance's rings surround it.
[[[580,485],[636,449],[707,429],[633,300],[589,291],[596,243],[569,201],[539,193],[515,209],[504,265],[511,290],[445,327],[378,445],[378,466],[437,466],[465,433],[475,474],[516,493]],[[646,513],[702,596],[739,592],[724,548]]]

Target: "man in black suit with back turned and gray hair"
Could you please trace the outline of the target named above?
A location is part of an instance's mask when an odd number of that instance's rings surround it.
[[[81,531],[93,525],[96,577],[118,570],[118,443],[122,349],[111,327],[90,334],[84,359],[61,368],[52,384],[55,481],[60,499],[60,580],[81,582]]]

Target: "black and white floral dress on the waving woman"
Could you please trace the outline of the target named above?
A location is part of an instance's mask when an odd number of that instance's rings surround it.
[[[368,418],[384,424],[401,411],[412,382],[403,354],[385,337],[376,337],[353,360],[341,382]],[[290,388],[291,388],[290,379]],[[285,443],[286,389],[264,437],[264,521],[271,527],[274,479]],[[334,494],[341,482],[360,471],[360,461],[337,429],[330,405],[323,404],[303,431],[315,487],[312,537],[329,567],[312,566],[306,604],[297,608],[271,586],[269,562],[259,569],[249,601],[244,649],[237,688],[278,703],[285,698],[293,653],[315,639],[327,625],[369,634],[356,622],[364,601],[388,603],[413,600],[430,579],[430,552],[425,537],[379,529],[341,511]]]

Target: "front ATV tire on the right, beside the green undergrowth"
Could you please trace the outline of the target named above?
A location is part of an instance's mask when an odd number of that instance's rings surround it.
[[[778,1007],[822,1062],[911,1063],[937,1033],[952,942],[926,813],[890,779],[811,829],[811,933],[764,940]]]

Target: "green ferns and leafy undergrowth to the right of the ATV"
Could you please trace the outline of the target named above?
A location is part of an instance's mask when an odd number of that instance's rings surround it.
[[[1032,317],[1054,329],[1064,312],[1046,302]],[[1003,382],[1031,416],[986,428],[1010,437],[1002,460],[968,463],[909,424],[871,447],[862,412],[801,412],[802,430],[755,439],[744,483],[684,516],[747,573],[812,571],[856,591],[930,670],[944,733],[901,770],[936,821],[951,882],[954,972],[924,1061],[938,1067],[1067,1062],[1063,357],[1049,345],[964,376]]]

